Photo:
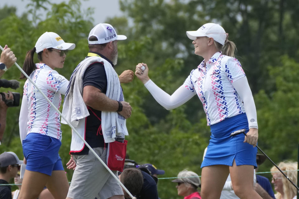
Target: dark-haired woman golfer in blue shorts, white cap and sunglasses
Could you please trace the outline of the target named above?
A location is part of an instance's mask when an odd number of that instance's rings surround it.
[[[67,50],[74,48],[75,44],[65,43],[56,33],[45,32],[26,54],[23,70],[57,109],[69,81],[54,69],[64,66]],[[40,61],[37,64],[33,62],[35,52]],[[21,78],[25,76],[22,74]],[[19,127],[26,163],[19,198],[35,199],[46,186],[55,199],[65,199],[69,183],[58,154],[60,117],[28,80],[24,85]]]

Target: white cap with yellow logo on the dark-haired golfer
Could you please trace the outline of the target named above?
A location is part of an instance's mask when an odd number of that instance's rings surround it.
[[[45,32],[37,39],[35,44],[36,53],[44,49],[53,48],[58,50],[73,50],[75,44],[65,43],[64,40],[55,32]]]

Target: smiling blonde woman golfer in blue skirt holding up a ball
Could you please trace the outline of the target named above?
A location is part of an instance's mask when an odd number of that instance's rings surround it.
[[[145,63],[136,66],[135,75],[168,110],[196,94],[202,102],[207,125],[211,127],[210,143],[201,165],[203,199],[219,198],[229,173],[238,197],[261,198],[253,187],[258,141],[256,109],[245,73],[234,58],[235,44],[214,23],[187,31],[187,36],[193,40],[194,53],[204,60],[171,96],[150,80]],[[246,129],[247,136],[230,137],[239,129]]]

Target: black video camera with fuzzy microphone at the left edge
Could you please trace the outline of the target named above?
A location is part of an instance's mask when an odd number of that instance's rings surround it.
[[[17,80],[0,80],[0,87],[3,88],[17,89],[19,85],[20,82]],[[12,92],[13,99],[6,99],[5,94],[2,92],[0,95],[2,95],[2,101],[4,101],[8,107],[20,105],[20,93]]]

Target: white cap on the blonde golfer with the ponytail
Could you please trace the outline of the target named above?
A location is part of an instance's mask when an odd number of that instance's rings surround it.
[[[186,31],[186,33],[189,39],[195,40],[196,37],[207,36],[213,38],[222,45],[224,45],[225,40],[228,37],[228,33],[225,32],[221,25],[214,23],[204,24],[198,30]]]

